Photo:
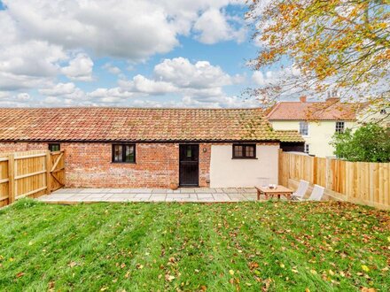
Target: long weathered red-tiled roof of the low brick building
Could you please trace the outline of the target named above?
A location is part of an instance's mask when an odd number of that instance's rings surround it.
[[[261,109],[0,109],[0,141],[285,141]]]

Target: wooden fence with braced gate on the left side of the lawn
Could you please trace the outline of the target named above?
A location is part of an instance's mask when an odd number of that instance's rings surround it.
[[[65,184],[64,151],[0,153],[0,207],[50,194]]]

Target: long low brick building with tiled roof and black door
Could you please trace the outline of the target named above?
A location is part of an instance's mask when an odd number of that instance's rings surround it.
[[[65,150],[66,187],[277,183],[280,145],[303,142],[261,109],[0,109],[0,151]]]

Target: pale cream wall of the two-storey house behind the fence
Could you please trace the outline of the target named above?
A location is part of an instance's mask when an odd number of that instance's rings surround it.
[[[270,120],[275,130],[300,130],[300,120]],[[355,122],[345,121],[345,128],[355,127]],[[331,136],[336,131],[336,120],[308,121],[308,135],[302,135],[310,155],[319,158],[334,156]]]

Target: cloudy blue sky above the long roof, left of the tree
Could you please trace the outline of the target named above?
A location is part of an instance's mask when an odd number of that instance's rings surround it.
[[[0,0],[0,106],[259,106],[244,0]]]

